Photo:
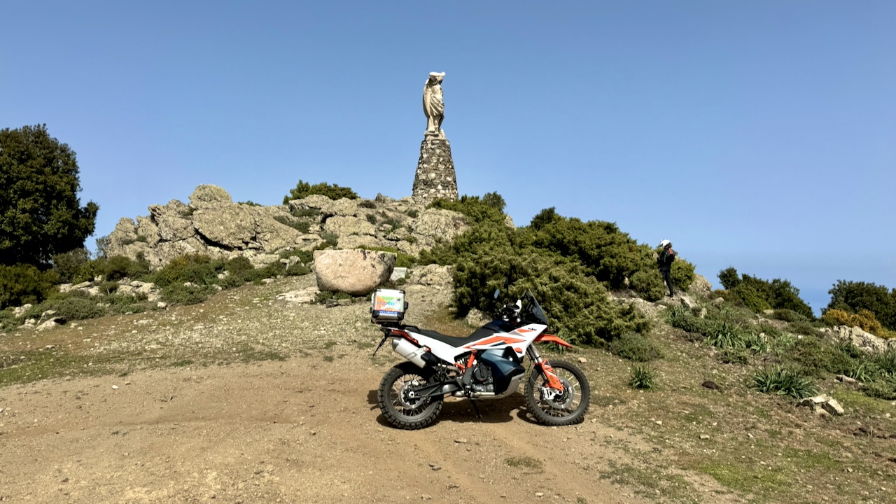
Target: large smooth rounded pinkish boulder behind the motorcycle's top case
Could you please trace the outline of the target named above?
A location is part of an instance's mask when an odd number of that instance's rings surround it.
[[[389,280],[395,254],[373,250],[315,250],[314,274],[321,291],[363,296]]]

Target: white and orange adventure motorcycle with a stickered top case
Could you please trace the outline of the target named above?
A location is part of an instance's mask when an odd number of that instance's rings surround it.
[[[530,291],[465,338],[402,324],[408,307],[403,291],[375,291],[372,305],[371,321],[383,331],[374,355],[391,338],[392,350],[408,360],[389,369],[377,393],[380,410],[395,427],[423,429],[442,411],[446,395],[470,399],[478,416],[476,401],[516,391],[527,355],[533,365],[525,401],[536,420],[570,425],[581,422],[588,411],[590,387],[582,369],[567,361],[548,362],[533,344],[572,348],[545,332],[547,317]]]

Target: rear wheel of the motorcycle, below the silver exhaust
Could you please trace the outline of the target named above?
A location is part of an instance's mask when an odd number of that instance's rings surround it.
[[[434,373],[401,362],[383,376],[376,398],[380,411],[399,429],[423,429],[442,411],[442,397],[417,397],[414,389],[432,383]]]

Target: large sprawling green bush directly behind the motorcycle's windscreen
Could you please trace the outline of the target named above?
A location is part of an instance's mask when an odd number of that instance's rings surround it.
[[[589,267],[579,256],[597,263],[596,256],[587,250],[590,244],[627,245],[631,241],[627,235],[606,236],[618,231],[614,231],[615,224],[586,225],[575,220],[569,226],[569,220],[555,215],[545,219],[540,230],[513,229],[506,225],[501,212],[503,201],[490,194],[432,204],[464,213],[470,223],[470,230],[452,243],[437,245],[420,255],[423,263],[454,265],[454,303],[459,314],[471,308],[495,313],[502,302],[518,298],[529,289],[546,309],[553,330],[573,343],[595,345],[649,329],[646,318],[631,304],[609,298],[605,283],[590,273],[599,266]],[[588,230],[593,236],[578,236],[579,230]],[[626,261],[632,257],[640,256],[610,257],[610,262],[628,271]],[[502,300],[495,300],[492,294],[495,289],[503,290],[505,281],[511,282],[510,292]]]

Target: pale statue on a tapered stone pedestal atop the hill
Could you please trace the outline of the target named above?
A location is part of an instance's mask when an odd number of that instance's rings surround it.
[[[451,143],[442,129],[444,100],[442,80],[444,72],[430,72],[423,86],[423,113],[426,115],[426,132],[420,143],[420,159],[414,177],[412,196],[420,203],[435,199],[457,199],[457,175],[451,158]]]

